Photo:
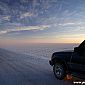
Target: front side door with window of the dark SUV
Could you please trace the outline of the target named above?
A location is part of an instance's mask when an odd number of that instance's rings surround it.
[[[71,69],[77,72],[85,72],[85,44],[78,47],[71,57]]]

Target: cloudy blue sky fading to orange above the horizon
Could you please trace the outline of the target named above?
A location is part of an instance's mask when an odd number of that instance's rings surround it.
[[[0,0],[0,45],[84,39],[85,0]]]

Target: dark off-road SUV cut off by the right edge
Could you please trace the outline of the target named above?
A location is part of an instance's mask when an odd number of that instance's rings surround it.
[[[53,53],[49,63],[57,79],[64,79],[67,74],[85,79],[85,40],[72,51]]]

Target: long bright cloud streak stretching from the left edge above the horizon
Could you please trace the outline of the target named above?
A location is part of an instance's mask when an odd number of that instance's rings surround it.
[[[7,34],[10,32],[19,32],[19,31],[39,31],[39,30],[45,30],[48,29],[50,26],[49,25],[40,25],[40,26],[22,26],[22,27],[16,27],[13,29],[6,29],[6,30],[1,30],[0,35],[2,34]]]

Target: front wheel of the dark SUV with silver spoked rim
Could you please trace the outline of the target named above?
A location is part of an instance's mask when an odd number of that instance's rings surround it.
[[[55,65],[53,66],[53,72],[55,77],[59,80],[62,80],[66,77],[66,70],[60,63],[55,63]]]

